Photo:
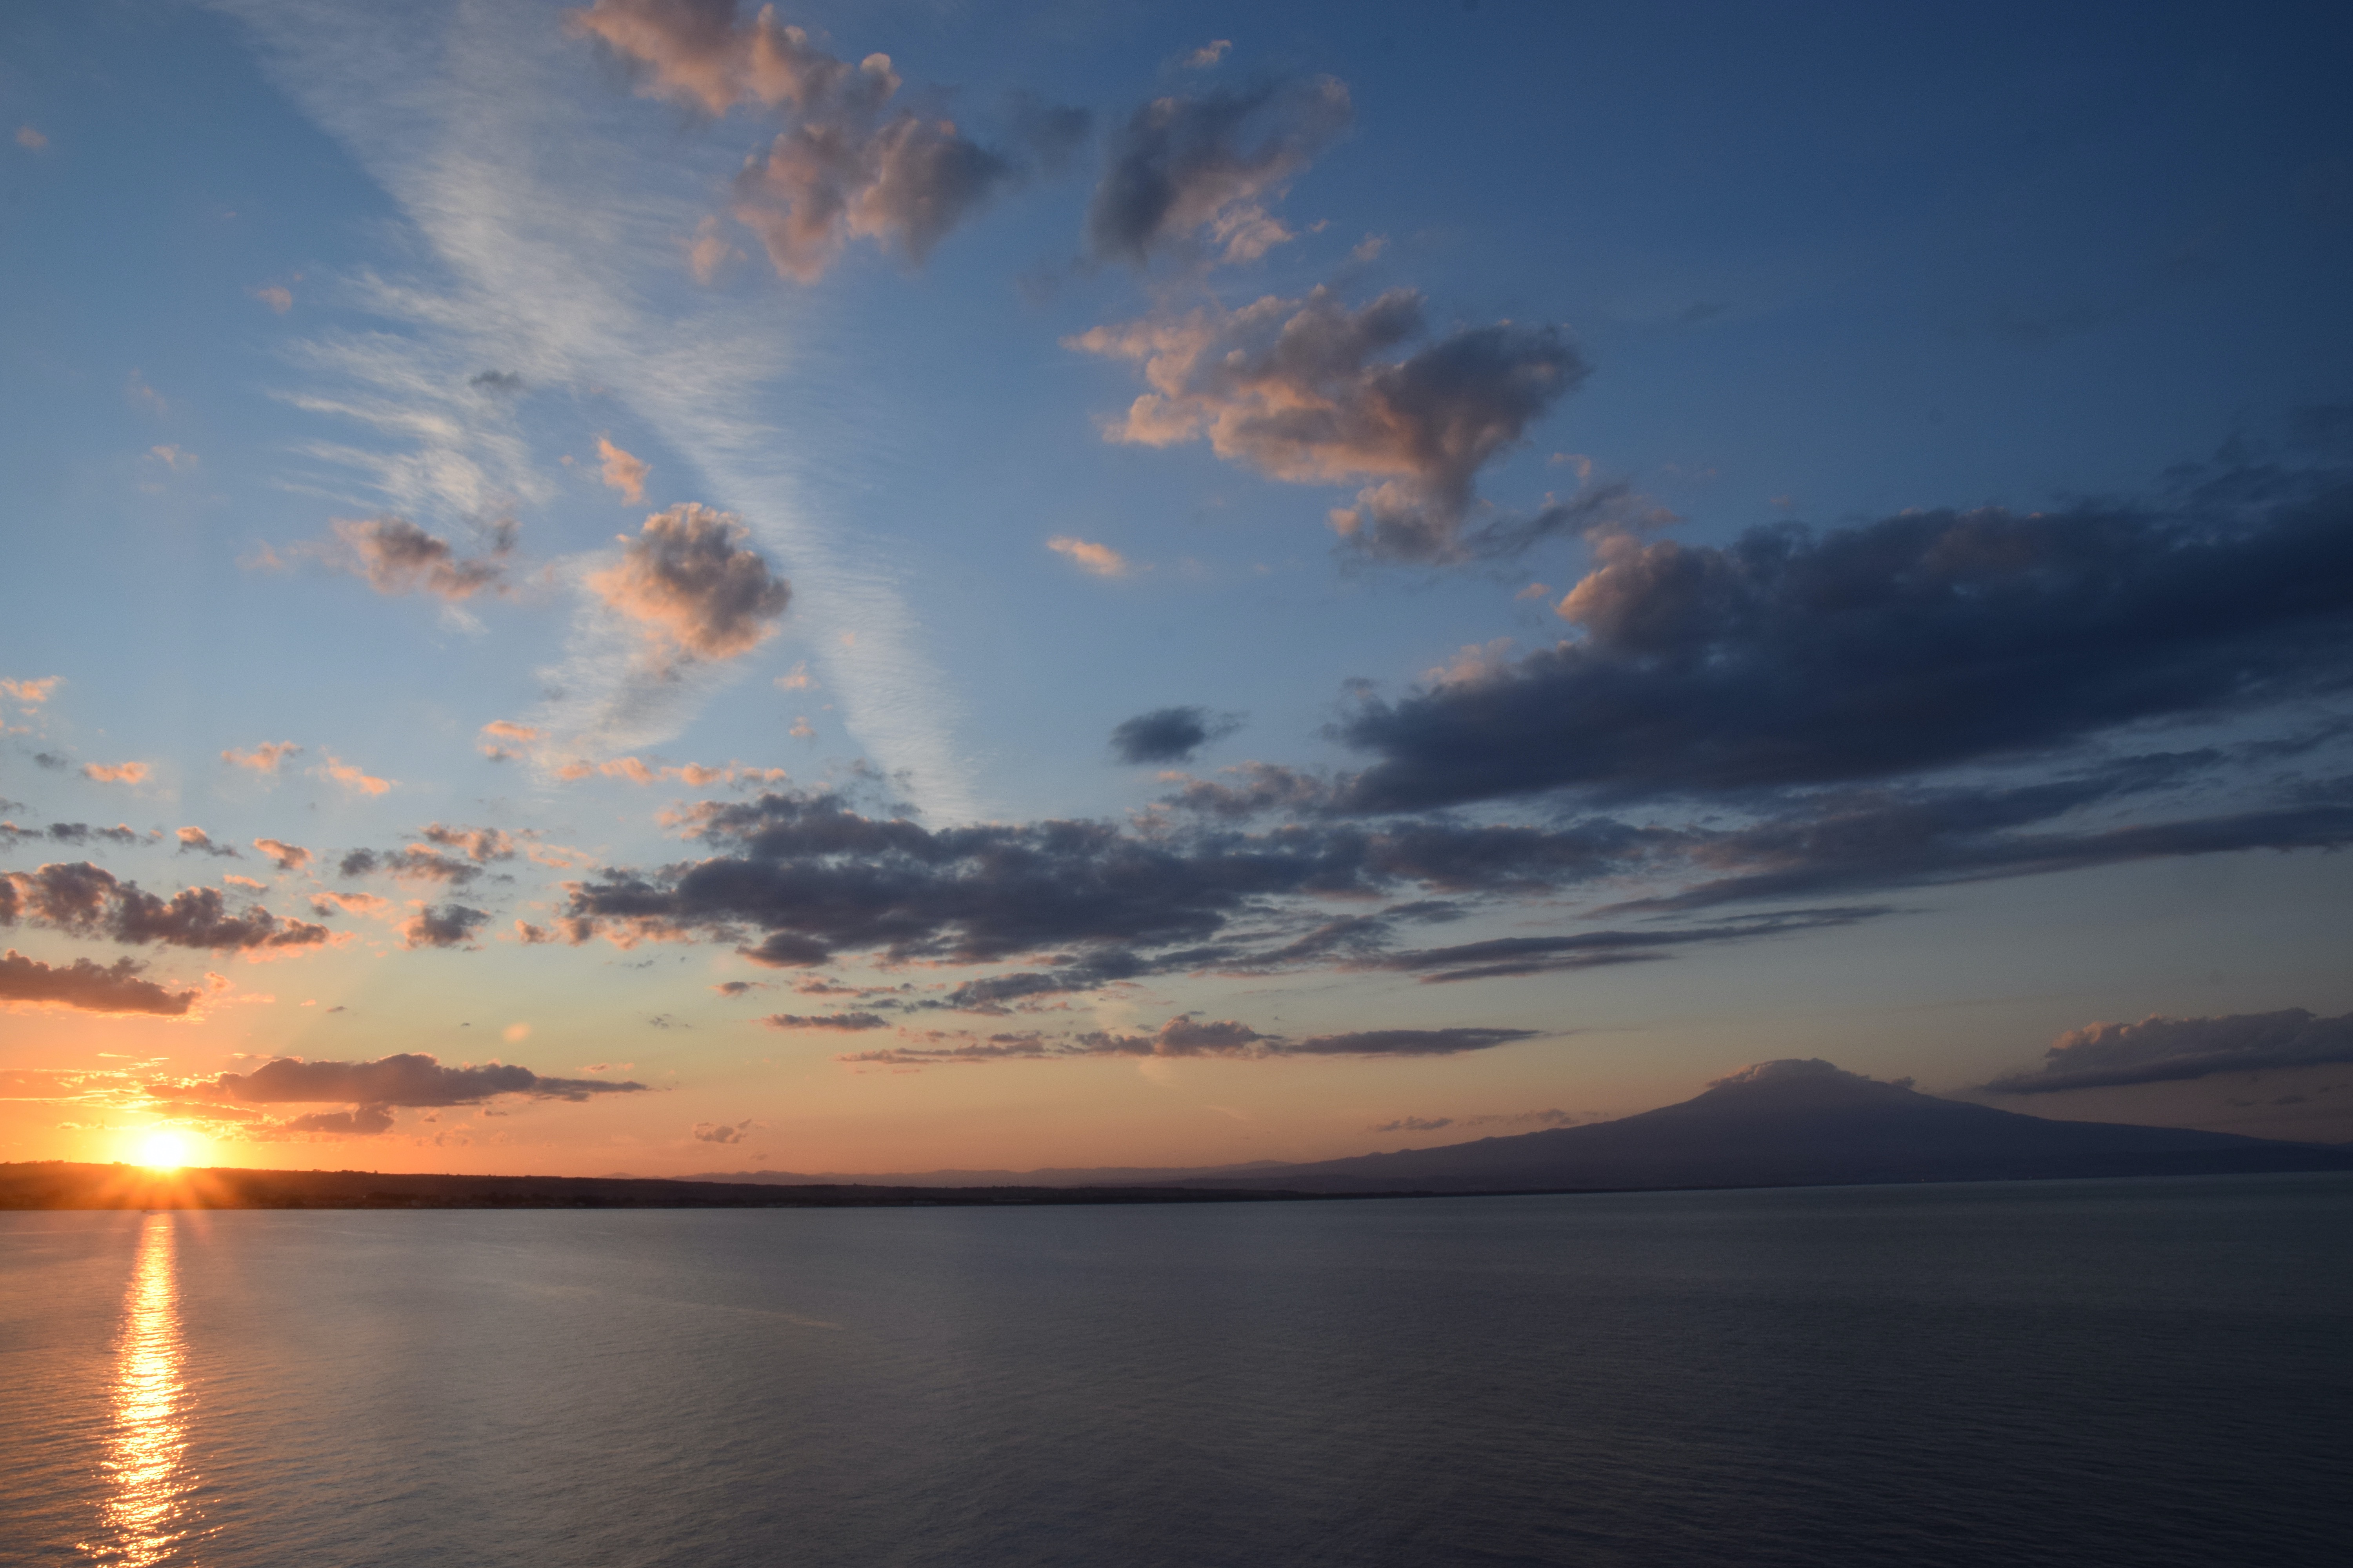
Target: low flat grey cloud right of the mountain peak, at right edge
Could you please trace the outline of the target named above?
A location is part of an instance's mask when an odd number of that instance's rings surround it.
[[[2068,1030],[2042,1053],[2038,1072],[2012,1072],[1986,1088],[2035,1095],[2337,1063],[2353,1063],[2353,1013],[2315,1018],[2301,1006],[2224,1018],[2153,1013],[2141,1023],[2087,1023]]]

